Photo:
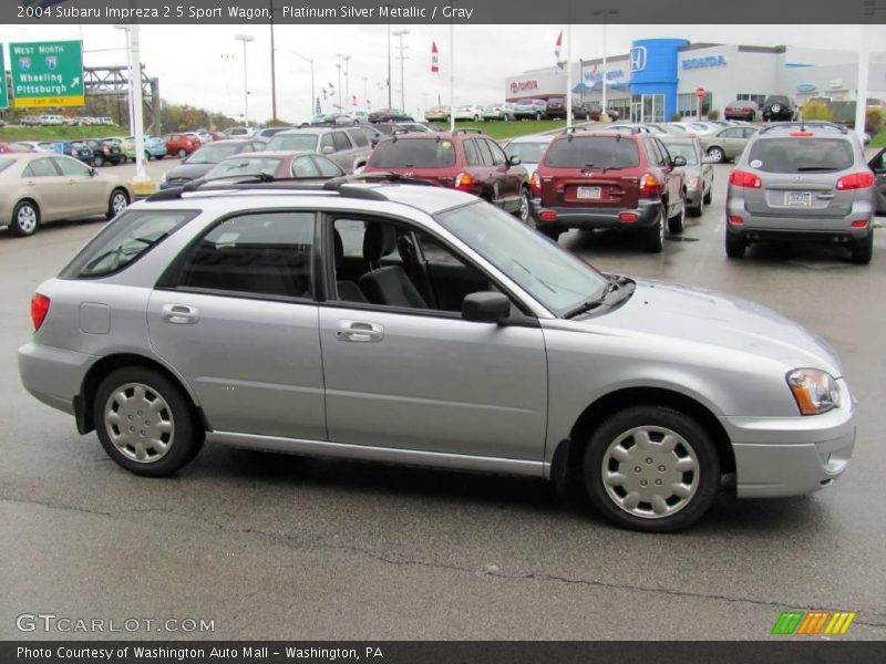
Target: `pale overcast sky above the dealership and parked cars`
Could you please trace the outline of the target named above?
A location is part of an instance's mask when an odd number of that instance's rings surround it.
[[[455,75],[459,103],[490,103],[504,97],[505,76],[553,65],[554,43],[560,25],[456,25]],[[406,108],[443,103],[449,95],[449,27],[402,25],[408,60],[404,65]],[[388,91],[380,90],[388,75],[387,25],[277,25],[277,49],[296,51],[315,62],[317,94],[330,83],[338,86],[337,53],[351,55],[349,92],[362,103],[387,105]],[[244,110],[243,43],[237,33],[255,37],[248,44],[249,116],[271,116],[270,28],[267,25],[145,25],[142,60],[151,76],[161,81],[162,96],[239,117]],[[852,50],[858,44],[857,25],[609,25],[607,51],[626,53],[639,38],[674,37],[693,42],[752,45],[787,44],[806,48]],[[125,64],[124,33],[111,25],[0,25],[0,41],[83,39],[85,64]],[[884,28],[875,27],[872,46],[882,50]],[[392,39],[393,105],[400,106],[400,61],[394,60],[398,39]],[[431,42],[440,49],[440,77],[430,73]],[[120,49],[107,51],[106,49]],[[565,44],[564,44],[565,54]],[[573,28],[573,61],[602,55],[602,28]],[[342,75],[342,87],[344,77]],[[344,91],[342,91],[343,94]],[[277,54],[278,115],[289,121],[309,117],[310,66],[285,51]],[[361,106],[362,107],[362,106]],[[324,107],[326,110],[326,107]],[[331,108],[330,108],[331,111]]]

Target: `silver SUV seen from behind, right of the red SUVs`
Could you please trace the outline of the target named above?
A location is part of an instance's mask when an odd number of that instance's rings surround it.
[[[874,173],[857,136],[826,122],[760,129],[729,176],[727,255],[752,242],[806,240],[844,245],[852,261],[874,251]]]

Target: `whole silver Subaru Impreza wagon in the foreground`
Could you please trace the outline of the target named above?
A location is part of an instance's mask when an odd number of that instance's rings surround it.
[[[138,475],[204,440],[515,474],[638,530],[845,469],[855,400],[814,334],[392,177],[133,205],[38,288],[25,387]]]

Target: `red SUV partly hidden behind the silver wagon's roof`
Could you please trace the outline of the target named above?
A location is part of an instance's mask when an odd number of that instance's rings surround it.
[[[519,157],[480,129],[394,134],[375,146],[363,173],[396,173],[474,194],[528,224],[529,177]]]

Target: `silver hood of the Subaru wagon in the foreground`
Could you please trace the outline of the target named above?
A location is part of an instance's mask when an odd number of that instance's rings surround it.
[[[583,324],[642,332],[842,375],[839,360],[821,336],[780,313],[741,298],[660,281],[638,280],[633,295]]]

